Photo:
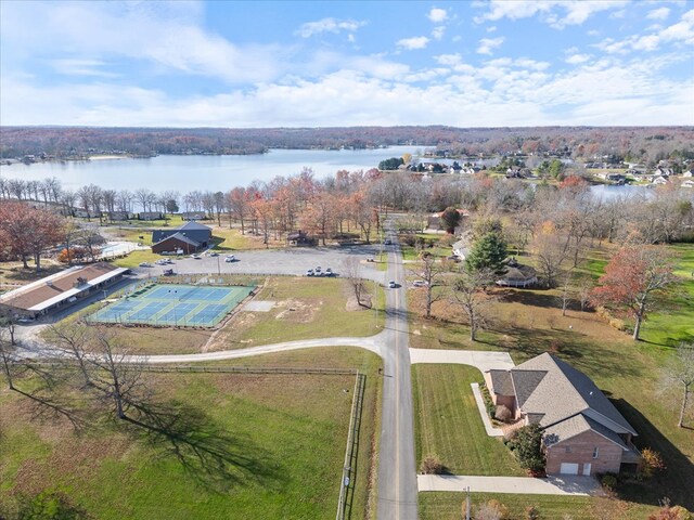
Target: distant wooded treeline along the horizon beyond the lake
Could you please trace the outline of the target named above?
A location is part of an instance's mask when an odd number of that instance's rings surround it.
[[[87,128],[0,127],[0,157],[66,158],[100,153],[260,154],[268,148],[367,148],[412,145],[446,156],[479,154],[615,156],[657,161],[694,158],[694,127],[454,128]]]

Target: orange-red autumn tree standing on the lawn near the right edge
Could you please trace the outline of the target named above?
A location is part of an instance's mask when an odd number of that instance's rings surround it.
[[[605,266],[592,301],[632,317],[633,339],[638,340],[641,323],[656,308],[654,296],[676,280],[672,269],[668,255],[657,246],[624,247]]]

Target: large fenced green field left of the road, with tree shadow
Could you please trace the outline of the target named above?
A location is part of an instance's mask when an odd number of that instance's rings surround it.
[[[293,363],[312,362],[310,351],[292,354]],[[326,366],[369,374],[377,364],[360,350],[322,355]],[[367,379],[352,518],[365,516],[377,431],[378,379]],[[335,515],[354,376],[147,374],[146,380],[155,396],[146,414],[132,412],[137,421],[102,412],[79,432],[66,420],[39,420],[31,401],[0,380],[0,517],[10,516],[20,494],[41,491],[61,492],[99,519]],[[17,381],[25,391],[36,385]]]

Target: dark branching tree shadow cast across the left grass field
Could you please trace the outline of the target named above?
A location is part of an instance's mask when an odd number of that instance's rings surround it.
[[[130,432],[166,456],[210,492],[227,493],[253,483],[282,484],[281,464],[250,439],[220,428],[205,412],[177,401],[138,403],[126,420]]]

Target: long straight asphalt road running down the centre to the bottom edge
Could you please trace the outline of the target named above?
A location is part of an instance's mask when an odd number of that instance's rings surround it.
[[[395,237],[393,237],[395,240]],[[387,335],[382,348],[383,410],[378,450],[378,520],[416,520],[414,415],[407,321],[407,290],[402,255],[388,252],[388,280],[400,287],[386,294]]]

